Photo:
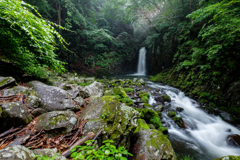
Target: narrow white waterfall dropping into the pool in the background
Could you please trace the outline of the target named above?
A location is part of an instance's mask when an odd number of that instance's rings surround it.
[[[139,58],[138,58],[138,70],[137,75],[145,75],[146,74],[146,49],[142,47],[139,50]]]

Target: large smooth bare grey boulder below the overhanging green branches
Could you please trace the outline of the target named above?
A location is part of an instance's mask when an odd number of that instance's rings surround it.
[[[71,96],[63,89],[48,86],[39,81],[31,81],[28,86],[38,93],[41,99],[40,107],[46,111],[74,110],[75,104]]]

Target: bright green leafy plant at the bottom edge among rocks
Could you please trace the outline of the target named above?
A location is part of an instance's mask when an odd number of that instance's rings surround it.
[[[102,145],[98,150],[96,146],[92,145],[94,140],[86,141],[86,146],[76,146],[71,150],[71,158],[79,160],[90,160],[90,159],[99,159],[99,160],[127,160],[128,155],[132,156],[124,147],[116,148],[112,145],[114,143],[112,140],[103,141]]]

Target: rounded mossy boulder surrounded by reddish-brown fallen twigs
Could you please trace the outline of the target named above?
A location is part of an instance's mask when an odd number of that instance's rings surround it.
[[[53,111],[38,117],[35,128],[51,131],[52,135],[69,133],[77,123],[77,116],[72,111]]]

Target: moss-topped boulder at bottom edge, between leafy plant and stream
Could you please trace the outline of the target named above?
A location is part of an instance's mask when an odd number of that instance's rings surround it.
[[[138,151],[135,160],[176,160],[175,152],[170,141],[156,129],[142,130],[135,133]]]

